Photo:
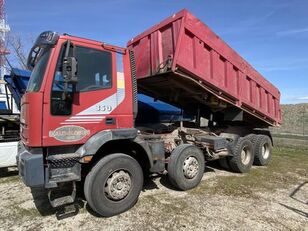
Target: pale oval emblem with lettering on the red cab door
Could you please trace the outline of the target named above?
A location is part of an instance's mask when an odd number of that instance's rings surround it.
[[[62,126],[54,131],[49,131],[49,137],[53,137],[62,142],[78,141],[89,134],[89,130],[75,125]]]

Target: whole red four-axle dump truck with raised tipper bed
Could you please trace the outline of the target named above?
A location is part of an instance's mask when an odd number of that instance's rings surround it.
[[[73,203],[83,182],[90,207],[112,216],[136,203],[152,173],[189,190],[206,161],[244,173],[271,158],[268,128],[281,123],[279,91],[186,10],[127,48],[43,32],[28,67],[18,167],[27,186],[49,190],[54,207]],[[138,93],[182,116],[146,120]],[[69,195],[57,197],[67,186]]]

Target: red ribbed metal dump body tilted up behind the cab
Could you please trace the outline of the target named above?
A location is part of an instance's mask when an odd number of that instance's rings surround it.
[[[187,10],[133,38],[128,48],[135,54],[138,87],[153,97],[166,101],[161,95],[172,91],[173,84],[168,76],[178,78],[178,86],[179,79],[188,76],[228,105],[269,125],[281,123],[278,89]],[[183,82],[180,95],[191,93]]]

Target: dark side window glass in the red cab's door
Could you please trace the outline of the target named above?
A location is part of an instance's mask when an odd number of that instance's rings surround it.
[[[64,80],[62,76],[64,51],[65,45],[61,49],[52,84],[52,115],[70,115],[72,111],[73,86],[71,84],[68,85],[67,89],[68,98],[65,101],[62,99],[64,91]],[[76,46],[75,57],[78,62],[78,83],[75,89],[76,92],[111,88],[112,55],[110,52]]]

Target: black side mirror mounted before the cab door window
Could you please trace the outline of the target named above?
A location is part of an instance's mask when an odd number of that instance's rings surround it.
[[[75,57],[67,57],[63,58],[62,65],[63,79],[66,83],[76,84],[78,82],[77,78],[77,60]]]

